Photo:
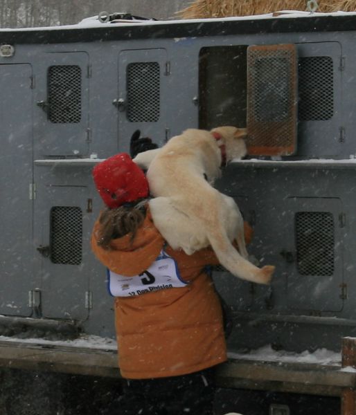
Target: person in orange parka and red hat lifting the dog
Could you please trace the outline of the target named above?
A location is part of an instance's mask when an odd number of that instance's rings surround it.
[[[172,250],[155,228],[148,182],[128,154],[94,167],[106,208],[91,248],[115,299],[118,365],[127,379],[110,414],[213,414],[213,371],[226,360],[222,308],[207,264],[211,248]]]

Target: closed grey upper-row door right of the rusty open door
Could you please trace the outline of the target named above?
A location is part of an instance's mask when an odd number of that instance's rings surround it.
[[[300,156],[337,156],[344,146],[342,74],[338,42],[297,44]]]

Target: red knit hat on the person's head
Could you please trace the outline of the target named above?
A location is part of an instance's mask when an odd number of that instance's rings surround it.
[[[149,194],[145,174],[126,153],[98,163],[93,169],[93,178],[105,205],[111,209]]]

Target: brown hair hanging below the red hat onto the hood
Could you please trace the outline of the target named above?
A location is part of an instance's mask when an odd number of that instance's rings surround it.
[[[101,225],[98,234],[98,245],[109,250],[112,239],[121,238],[131,233],[131,241],[134,240],[137,230],[145,219],[145,207],[121,206],[116,209],[106,208],[100,213]]]

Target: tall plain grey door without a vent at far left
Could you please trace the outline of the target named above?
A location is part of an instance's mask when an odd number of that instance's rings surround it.
[[[33,89],[29,64],[0,65],[0,314],[28,316],[33,270]]]

